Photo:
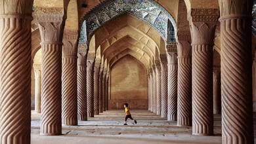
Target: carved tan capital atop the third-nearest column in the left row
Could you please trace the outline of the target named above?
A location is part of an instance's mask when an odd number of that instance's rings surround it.
[[[63,56],[74,56],[77,57],[77,31],[64,31],[63,35]]]

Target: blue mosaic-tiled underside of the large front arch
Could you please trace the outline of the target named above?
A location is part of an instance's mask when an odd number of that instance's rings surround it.
[[[168,41],[175,42],[175,38],[173,38],[176,30],[175,20],[153,0],[104,1],[83,17],[83,20],[86,21],[87,37],[91,37],[95,30],[103,26],[104,23],[125,13],[132,14],[139,18],[139,20],[154,27],[165,41],[168,39]],[[168,22],[170,22],[169,28],[167,26]]]

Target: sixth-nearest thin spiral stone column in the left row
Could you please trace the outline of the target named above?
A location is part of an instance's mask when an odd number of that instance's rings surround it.
[[[100,75],[100,60],[95,60],[95,73],[94,73],[94,109],[95,109],[95,115],[98,115],[99,112],[99,75]]]

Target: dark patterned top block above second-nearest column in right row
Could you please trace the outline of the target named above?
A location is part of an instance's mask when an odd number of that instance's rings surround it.
[[[218,22],[219,9],[191,9],[192,22]]]

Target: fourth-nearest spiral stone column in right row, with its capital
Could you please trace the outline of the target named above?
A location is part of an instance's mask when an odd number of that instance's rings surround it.
[[[177,46],[176,43],[168,44],[168,110],[167,120],[177,120]]]

